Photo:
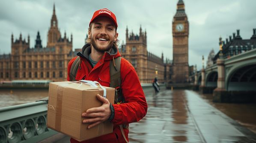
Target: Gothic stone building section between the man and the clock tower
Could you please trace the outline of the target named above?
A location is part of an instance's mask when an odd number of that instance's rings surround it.
[[[158,57],[147,51],[147,33],[142,31],[135,35],[128,33],[126,28],[126,44],[119,50],[122,57],[127,59],[135,68],[141,83],[151,83],[157,77],[158,82],[164,82],[164,56]]]

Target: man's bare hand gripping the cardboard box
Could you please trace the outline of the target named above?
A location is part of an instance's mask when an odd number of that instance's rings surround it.
[[[110,102],[108,101],[108,99],[105,99],[99,94],[97,94],[97,98],[103,104],[100,107],[89,108],[85,113],[82,114],[82,117],[89,117],[89,119],[83,120],[83,123],[91,123],[90,125],[88,125],[88,129],[106,121],[111,114]]]

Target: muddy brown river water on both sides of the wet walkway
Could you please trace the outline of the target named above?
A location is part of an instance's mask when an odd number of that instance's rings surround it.
[[[35,102],[48,96],[48,90],[0,90],[0,108]],[[256,133],[256,104],[214,103],[212,94],[199,95],[227,116]]]

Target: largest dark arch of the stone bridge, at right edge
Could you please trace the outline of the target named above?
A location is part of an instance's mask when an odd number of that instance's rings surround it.
[[[244,61],[233,66],[225,81],[228,91],[256,91],[256,62]]]

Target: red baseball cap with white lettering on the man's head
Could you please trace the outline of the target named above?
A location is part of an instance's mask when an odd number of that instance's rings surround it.
[[[92,21],[95,20],[95,18],[98,18],[101,16],[106,16],[106,17],[112,19],[117,28],[116,15],[108,9],[100,9],[100,10],[97,10],[96,12],[94,12],[92,19],[89,23],[89,26],[92,23]]]

